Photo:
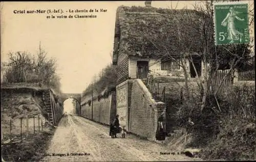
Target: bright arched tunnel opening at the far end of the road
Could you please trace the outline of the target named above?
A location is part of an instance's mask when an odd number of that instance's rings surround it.
[[[67,98],[63,101],[63,113],[66,115],[80,113],[80,102],[75,98]]]

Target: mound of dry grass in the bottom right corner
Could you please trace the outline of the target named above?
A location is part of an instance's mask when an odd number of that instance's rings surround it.
[[[255,122],[255,121],[254,121]],[[239,116],[228,118],[220,128],[216,140],[201,152],[206,159],[253,160],[255,150],[255,123]]]

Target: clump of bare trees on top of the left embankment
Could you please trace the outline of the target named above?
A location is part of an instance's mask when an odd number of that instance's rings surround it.
[[[47,58],[47,53],[41,48],[41,44],[36,58],[28,52],[10,52],[9,61],[2,67],[1,72],[7,83],[40,83],[60,92],[56,60]]]

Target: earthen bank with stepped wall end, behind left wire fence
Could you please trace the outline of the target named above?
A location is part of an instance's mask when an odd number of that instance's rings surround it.
[[[33,117],[41,114],[52,124],[57,124],[63,114],[63,106],[57,102],[51,90],[1,89],[1,106],[2,113],[11,118],[23,118],[27,115]]]

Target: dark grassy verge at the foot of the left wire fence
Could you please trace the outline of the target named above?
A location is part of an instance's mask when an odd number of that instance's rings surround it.
[[[55,128],[49,127],[22,143],[2,145],[2,156],[6,161],[39,161],[48,149]]]

